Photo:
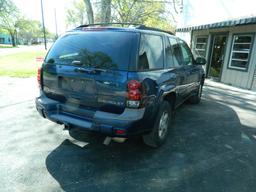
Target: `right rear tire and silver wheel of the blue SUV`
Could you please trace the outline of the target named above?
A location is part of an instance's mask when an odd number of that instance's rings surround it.
[[[172,105],[168,101],[163,101],[160,105],[153,130],[143,135],[143,141],[150,147],[160,147],[166,141],[171,124]]]

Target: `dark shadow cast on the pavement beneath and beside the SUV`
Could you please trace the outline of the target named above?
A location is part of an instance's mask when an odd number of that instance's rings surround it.
[[[168,141],[159,149],[141,140],[102,145],[103,137],[65,140],[46,159],[64,191],[254,191],[256,143],[235,111],[203,99],[176,112]],[[76,134],[73,135],[76,137]]]

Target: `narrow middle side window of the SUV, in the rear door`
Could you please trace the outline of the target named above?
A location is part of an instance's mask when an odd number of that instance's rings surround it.
[[[169,37],[173,52],[173,64],[175,67],[181,66],[184,63],[181,48],[176,39]]]

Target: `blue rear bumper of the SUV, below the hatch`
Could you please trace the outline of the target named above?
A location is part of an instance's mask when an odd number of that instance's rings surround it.
[[[68,111],[75,110],[76,113],[67,113],[67,110],[63,110],[64,108],[68,109]],[[142,124],[141,121],[144,118],[145,108],[125,108],[122,114],[114,114],[78,109],[78,107],[69,106],[41,95],[36,98],[36,109],[41,116],[53,122],[101,132],[108,136],[128,137],[143,134],[146,131],[136,126]],[[116,130],[124,130],[124,132],[117,134]]]

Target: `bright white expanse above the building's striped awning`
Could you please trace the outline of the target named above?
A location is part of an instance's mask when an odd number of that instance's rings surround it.
[[[246,16],[256,16],[255,0],[184,0],[182,25],[201,25]]]

